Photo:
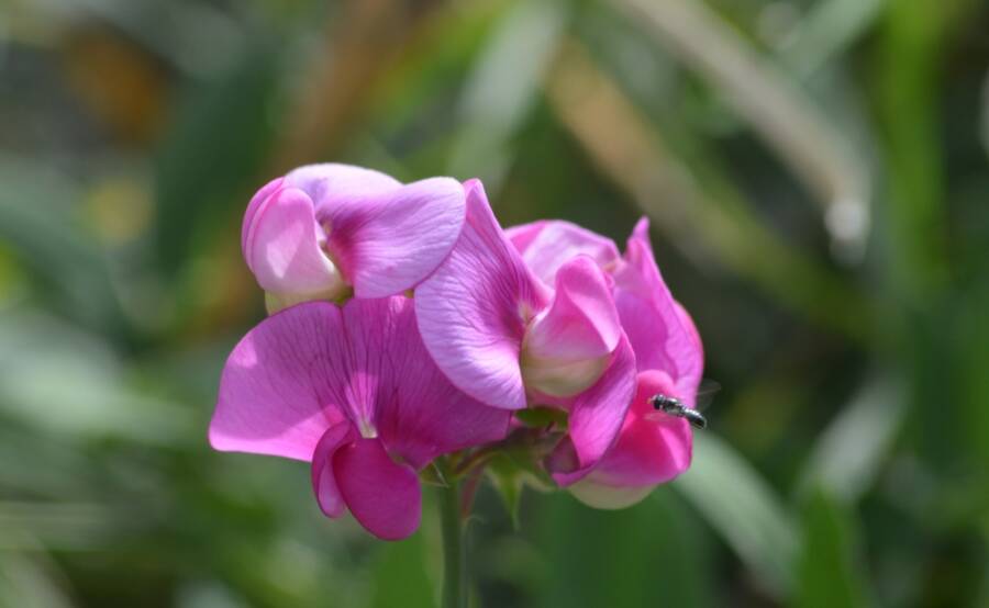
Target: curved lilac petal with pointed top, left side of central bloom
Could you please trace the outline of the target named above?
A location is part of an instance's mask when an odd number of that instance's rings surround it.
[[[415,290],[423,341],[447,378],[496,407],[525,407],[519,353],[546,296],[491,213],[484,187],[464,184],[467,222],[449,257]]]

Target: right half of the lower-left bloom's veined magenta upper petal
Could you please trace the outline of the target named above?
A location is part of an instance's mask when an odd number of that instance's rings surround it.
[[[433,362],[412,300],[352,300],[344,307],[351,349],[349,395],[388,450],[420,469],[440,454],[508,435],[511,412],[457,390]]]

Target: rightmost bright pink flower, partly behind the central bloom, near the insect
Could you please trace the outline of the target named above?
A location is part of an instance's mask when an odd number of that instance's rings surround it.
[[[690,466],[690,425],[656,413],[648,398],[662,393],[693,407],[703,371],[700,336],[659,274],[648,222],[643,218],[635,226],[624,258],[610,239],[567,222],[536,222],[507,233],[543,281],[552,281],[574,255],[592,257],[613,278],[615,306],[640,370],[637,387],[618,441],[571,491],[597,507],[631,505]],[[551,468],[566,468],[569,460],[565,442]]]

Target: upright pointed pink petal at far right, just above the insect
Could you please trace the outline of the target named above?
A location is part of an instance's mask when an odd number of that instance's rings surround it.
[[[615,271],[614,301],[640,370],[663,370],[688,405],[703,373],[700,338],[689,316],[663,282],[649,245],[648,221],[642,218],[629,239],[625,261]]]

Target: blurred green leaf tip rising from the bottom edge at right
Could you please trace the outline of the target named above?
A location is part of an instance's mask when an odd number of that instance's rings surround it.
[[[852,515],[824,491],[814,491],[804,508],[803,548],[797,562],[799,608],[867,606],[857,559]]]

